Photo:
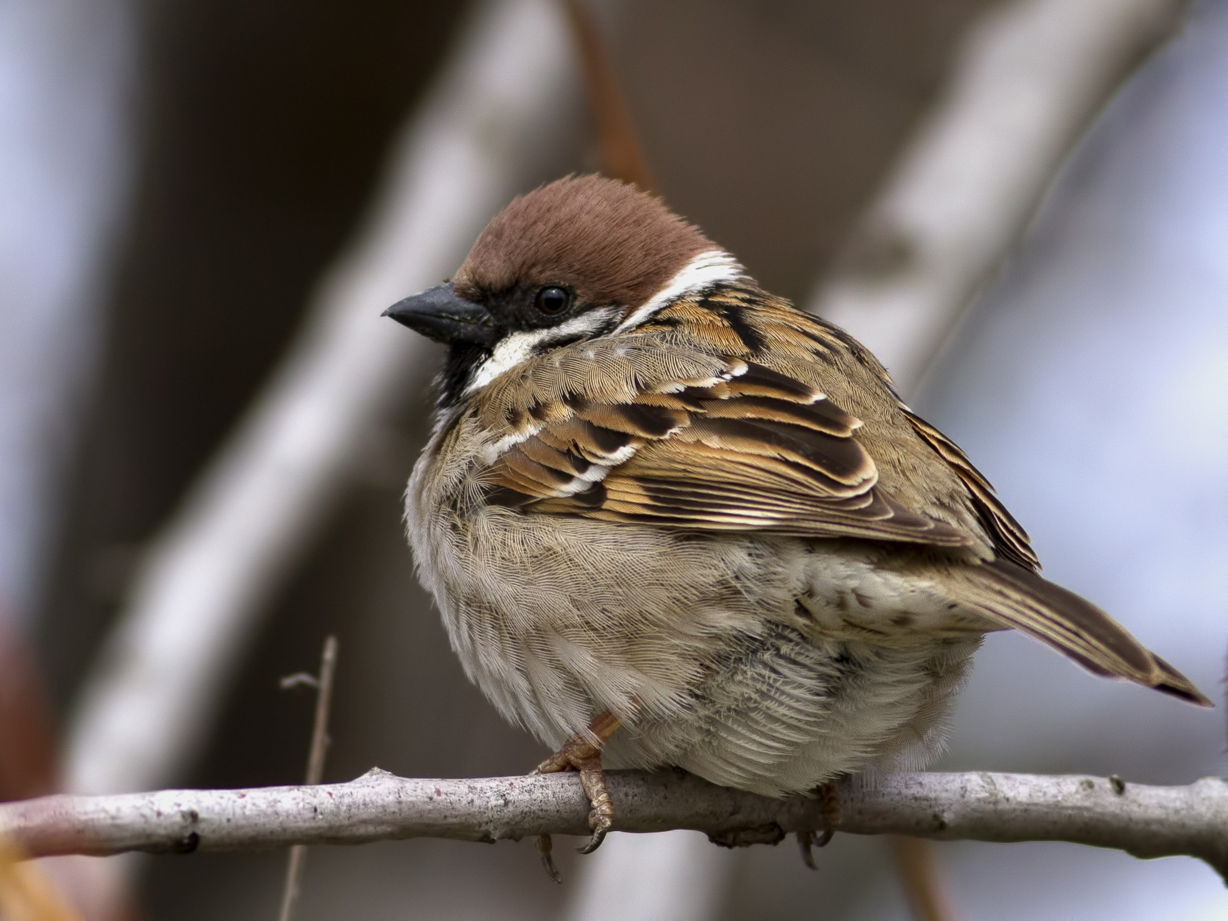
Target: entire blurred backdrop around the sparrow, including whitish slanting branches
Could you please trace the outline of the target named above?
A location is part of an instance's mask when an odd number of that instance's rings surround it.
[[[440,355],[378,314],[513,194],[609,168],[619,125],[670,206],[883,354],[1050,578],[1222,698],[1228,0],[7,0],[0,799],[301,781],[313,699],[279,679],[328,634],[327,780],[540,760],[415,581]],[[995,635],[937,768],[1186,783],[1224,745],[1222,710]],[[313,849],[296,916],[916,911],[877,839],[817,873],[686,833],[558,851],[562,887],[530,842]],[[932,856],[949,917],[1228,916],[1194,860]],[[263,919],[285,856],[48,872],[90,917]]]

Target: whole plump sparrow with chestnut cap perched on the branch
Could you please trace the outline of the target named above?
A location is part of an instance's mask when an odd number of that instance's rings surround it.
[[[984,635],[1208,701],[1038,575],[1028,534],[837,327],[657,198],[596,176],[517,198],[387,316],[448,345],[406,491],[468,677],[577,769],[769,796],[921,768]]]

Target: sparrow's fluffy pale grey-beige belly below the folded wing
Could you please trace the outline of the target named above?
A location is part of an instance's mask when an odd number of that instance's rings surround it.
[[[855,543],[501,508],[456,528],[413,502],[409,518],[467,674],[551,747],[613,711],[612,768],[783,793],[920,766],[981,639],[936,586]]]

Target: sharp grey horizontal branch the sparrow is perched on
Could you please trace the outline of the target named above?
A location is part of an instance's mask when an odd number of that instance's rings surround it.
[[[822,828],[817,799],[770,799],[680,772],[610,771],[621,831],[695,829],[717,844],[775,844]],[[900,774],[840,788],[841,830],[943,840],[1072,841],[1136,857],[1199,857],[1228,878],[1228,781],[1186,787],[1117,777]],[[349,783],[50,796],[0,804],[0,835],[26,853],[365,844],[403,837],[499,841],[588,834],[571,774],[411,780],[378,769]]]

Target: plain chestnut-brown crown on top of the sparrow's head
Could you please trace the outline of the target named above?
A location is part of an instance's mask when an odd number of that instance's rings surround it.
[[[495,215],[457,273],[463,297],[518,286],[571,286],[581,302],[637,307],[698,253],[718,247],[632,185],[576,176]]]

